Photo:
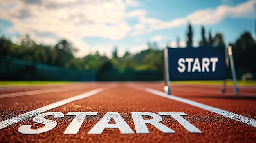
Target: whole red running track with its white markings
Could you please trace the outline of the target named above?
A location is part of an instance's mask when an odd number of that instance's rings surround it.
[[[256,142],[255,86],[242,86],[235,95],[232,87],[222,94],[221,86],[171,84],[171,96],[162,92],[163,86],[158,82],[99,82],[2,87],[0,142]],[[52,130],[28,134],[22,129],[26,125],[31,125],[29,130],[44,128],[33,120],[48,112],[60,116],[45,116],[56,122]],[[72,112],[94,115],[84,116],[71,127],[79,117]]]

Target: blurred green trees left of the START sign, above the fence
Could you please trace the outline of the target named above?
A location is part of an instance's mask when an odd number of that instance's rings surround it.
[[[112,58],[100,55],[98,51],[83,58],[76,58],[74,53],[79,51],[65,39],[59,40],[55,45],[45,45],[36,43],[29,35],[21,37],[18,43],[14,43],[4,36],[0,37],[0,56],[15,57],[80,70],[105,71],[111,69],[124,70],[127,68],[134,70],[161,70],[163,67],[162,50],[157,46],[156,42],[148,42],[148,47],[148,50],[141,51],[141,53],[135,55],[126,52],[123,57],[117,56],[118,51],[115,48]]]

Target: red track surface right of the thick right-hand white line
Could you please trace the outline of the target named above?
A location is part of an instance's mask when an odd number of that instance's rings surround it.
[[[146,86],[158,91],[163,91],[163,85],[157,84],[142,84],[142,86]],[[193,87],[194,85],[192,85]],[[196,86],[197,87],[197,86]],[[256,111],[256,93],[252,90],[254,96],[244,96],[241,95],[227,95],[225,93],[221,93],[221,88],[216,88],[216,93],[204,93],[201,92],[201,88],[207,90],[209,86],[200,86],[200,88],[184,88],[183,90],[176,90],[176,86],[172,86],[172,95],[182,97],[185,99],[189,99],[192,101],[196,101],[199,103],[203,103],[212,107],[220,108],[223,110],[227,110],[236,114],[243,115],[245,117],[256,119],[255,111]],[[180,87],[178,87],[180,89]],[[242,87],[243,88],[243,87]],[[254,89],[254,87],[252,87]],[[218,93],[219,92],[219,93]]]

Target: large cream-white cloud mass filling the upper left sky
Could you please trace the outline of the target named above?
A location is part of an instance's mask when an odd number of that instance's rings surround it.
[[[29,34],[36,42],[45,44],[56,44],[65,38],[79,49],[76,57],[90,52],[82,37],[119,40],[132,29],[125,20],[126,4],[122,0],[7,0],[0,5],[0,18],[14,23],[8,30]],[[105,53],[110,56],[111,52],[104,50]]]

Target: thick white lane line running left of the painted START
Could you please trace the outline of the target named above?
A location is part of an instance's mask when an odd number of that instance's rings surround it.
[[[85,92],[85,93],[82,93],[80,95],[76,95],[74,97],[63,99],[61,101],[49,104],[47,106],[40,107],[40,108],[38,108],[36,110],[32,110],[30,112],[18,115],[16,117],[11,118],[11,119],[7,119],[5,121],[0,122],[0,130],[2,128],[6,128],[6,127],[8,127],[10,125],[18,123],[18,122],[23,121],[25,119],[28,119],[30,117],[33,117],[35,115],[41,114],[41,113],[43,113],[45,111],[48,111],[48,110],[51,110],[53,108],[56,108],[56,107],[59,107],[59,106],[63,106],[65,104],[67,104],[67,103],[70,103],[70,102],[73,102],[73,101],[76,101],[76,100],[80,100],[80,99],[83,99],[83,98],[86,98],[86,97],[90,97],[92,95],[96,95],[96,94],[98,94],[100,92],[103,92],[105,90],[108,90],[108,89],[111,89],[111,88],[115,88],[115,87],[116,87],[116,84],[112,84],[111,86],[107,86],[107,87],[97,88],[97,89],[91,90],[89,92]]]

